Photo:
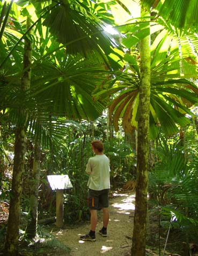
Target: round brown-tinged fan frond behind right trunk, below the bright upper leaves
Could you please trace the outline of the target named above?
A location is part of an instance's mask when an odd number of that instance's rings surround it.
[[[169,75],[166,74],[168,71],[173,71],[173,68],[167,62],[162,61],[162,63],[162,68],[155,67],[151,72],[150,134],[154,137],[158,126],[162,127],[166,135],[178,132],[178,124],[185,127],[190,122],[185,114],[193,115],[189,106],[197,102],[198,93],[197,86],[187,79],[178,79],[177,77],[173,79],[172,76],[169,78]],[[134,59],[131,65],[137,67],[137,64],[134,64]],[[124,119],[124,116],[129,120],[124,129],[127,130],[130,126],[132,129],[137,129],[139,83],[138,73],[116,73],[113,86],[110,82],[109,89],[96,91],[94,95],[96,98],[117,94],[109,105],[116,129],[119,118],[123,117]]]

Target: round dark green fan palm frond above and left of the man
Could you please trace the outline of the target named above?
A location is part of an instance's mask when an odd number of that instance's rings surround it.
[[[60,54],[58,59],[56,54],[54,61],[46,59],[36,64],[30,96],[54,114],[96,119],[104,107],[99,101],[93,102],[91,94],[105,79],[104,67],[81,57],[63,56]]]

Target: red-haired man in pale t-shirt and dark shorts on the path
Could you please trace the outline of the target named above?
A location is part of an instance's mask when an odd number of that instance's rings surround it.
[[[91,142],[91,148],[96,156],[89,158],[86,173],[90,175],[87,185],[89,186],[89,209],[91,213],[91,229],[89,234],[81,236],[84,241],[96,241],[95,231],[98,222],[97,210],[102,209],[103,227],[99,230],[102,237],[107,237],[107,225],[109,220],[108,191],[110,188],[109,159],[104,152],[104,145],[99,140]]]

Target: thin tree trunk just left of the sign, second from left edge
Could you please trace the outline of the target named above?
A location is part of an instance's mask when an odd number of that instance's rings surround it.
[[[38,196],[39,196],[39,181],[40,181],[40,158],[41,158],[41,147],[40,147],[40,136],[35,135],[34,140],[34,161],[32,171],[32,182],[31,182],[31,196],[30,196],[30,220],[26,227],[27,238],[33,239],[36,236],[37,223],[38,223]]]

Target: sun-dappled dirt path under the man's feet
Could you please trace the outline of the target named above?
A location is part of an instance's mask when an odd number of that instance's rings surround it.
[[[130,255],[133,217],[135,209],[134,193],[114,193],[109,200],[110,219],[107,237],[98,234],[102,227],[102,213],[99,212],[96,230],[96,242],[82,241],[82,234],[89,232],[89,222],[76,228],[68,228],[57,233],[55,237],[71,248],[70,256],[127,256]]]

